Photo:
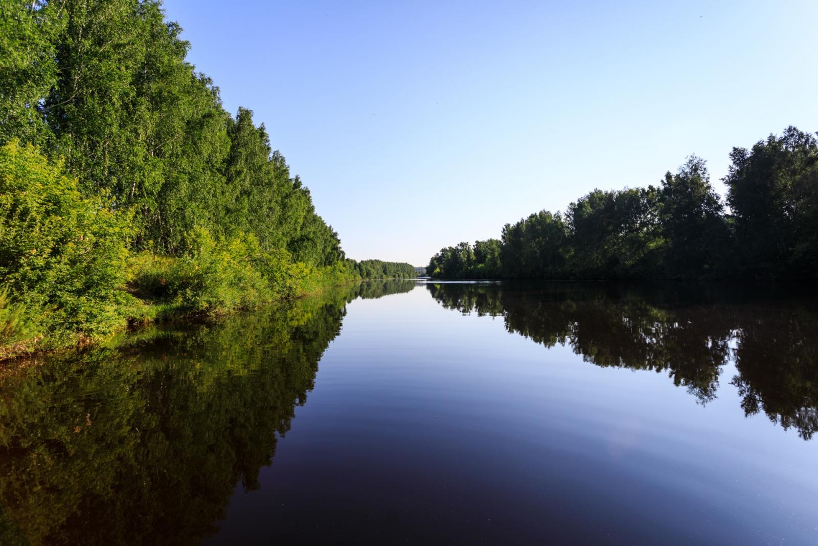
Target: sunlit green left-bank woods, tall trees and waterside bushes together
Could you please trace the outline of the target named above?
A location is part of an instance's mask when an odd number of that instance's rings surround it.
[[[0,0],[0,358],[410,264],[346,259],[156,0]]]

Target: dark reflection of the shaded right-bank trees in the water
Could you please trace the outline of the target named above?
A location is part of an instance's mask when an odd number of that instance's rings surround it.
[[[567,345],[601,367],[667,374],[699,403],[716,398],[726,363],[747,416],[765,413],[804,440],[818,428],[818,309],[814,296],[752,287],[605,283],[429,283],[446,309],[502,317],[506,330]]]

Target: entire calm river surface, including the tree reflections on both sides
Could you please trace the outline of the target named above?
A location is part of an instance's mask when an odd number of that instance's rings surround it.
[[[0,544],[818,544],[814,296],[373,282],[0,396]]]

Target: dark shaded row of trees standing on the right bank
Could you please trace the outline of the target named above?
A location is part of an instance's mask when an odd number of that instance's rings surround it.
[[[734,148],[713,190],[691,156],[658,186],[594,190],[564,213],[541,210],[500,239],[461,242],[429,260],[434,278],[818,278],[818,142],[789,127]]]

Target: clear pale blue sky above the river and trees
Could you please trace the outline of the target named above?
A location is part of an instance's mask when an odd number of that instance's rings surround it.
[[[818,131],[818,2],[166,0],[350,258],[443,246]]]

